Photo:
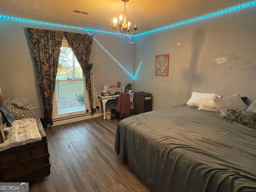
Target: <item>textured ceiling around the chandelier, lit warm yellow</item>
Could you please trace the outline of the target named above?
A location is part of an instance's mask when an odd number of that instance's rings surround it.
[[[216,12],[250,0],[130,0],[127,20],[138,33]],[[79,10],[88,14],[72,12]],[[124,14],[121,0],[0,0],[0,14],[43,22],[112,31]]]

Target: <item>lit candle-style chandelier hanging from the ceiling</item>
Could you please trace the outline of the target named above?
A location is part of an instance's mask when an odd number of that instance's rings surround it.
[[[114,26],[112,27],[114,32],[115,33],[120,33],[122,35],[119,35],[121,38],[124,38],[125,36],[127,36],[128,38],[131,38],[132,37],[132,34],[135,33],[135,31],[138,29],[136,28],[136,24],[134,24],[134,28],[133,28],[133,31],[131,32],[130,30],[130,25],[131,23],[130,22],[126,22],[126,2],[128,2],[129,0],[121,0],[122,2],[124,2],[124,21],[122,23],[122,20],[123,20],[123,16],[120,15],[119,16],[119,24],[118,24],[118,30],[116,31],[116,23],[117,23],[117,18],[114,18],[113,19],[113,22],[114,22]]]

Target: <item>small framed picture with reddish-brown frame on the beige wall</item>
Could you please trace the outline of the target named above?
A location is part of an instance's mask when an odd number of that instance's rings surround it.
[[[156,55],[155,75],[168,76],[169,72],[169,54]]]

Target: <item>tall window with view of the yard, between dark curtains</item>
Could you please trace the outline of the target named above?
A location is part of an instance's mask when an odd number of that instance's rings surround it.
[[[72,49],[62,40],[58,72],[56,76],[53,119],[89,112],[85,81]]]

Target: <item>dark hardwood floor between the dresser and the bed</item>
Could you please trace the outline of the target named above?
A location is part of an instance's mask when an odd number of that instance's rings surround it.
[[[30,192],[149,192],[116,155],[117,124],[98,117],[46,128],[51,174]]]

